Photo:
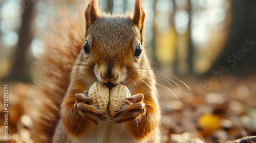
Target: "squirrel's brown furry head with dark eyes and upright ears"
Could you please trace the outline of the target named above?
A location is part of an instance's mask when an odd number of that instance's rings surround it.
[[[148,68],[141,3],[136,0],[134,13],[124,15],[99,14],[95,0],[88,4],[83,59],[93,63],[97,80],[112,85],[134,83],[141,70]]]

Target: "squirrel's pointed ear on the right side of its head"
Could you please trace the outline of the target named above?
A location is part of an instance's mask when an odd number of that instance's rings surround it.
[[[134,5],[133,23],[139,28],[140,31],[143,30],[144,19],[145,12],[142,7],[142,1],[136,0]]]

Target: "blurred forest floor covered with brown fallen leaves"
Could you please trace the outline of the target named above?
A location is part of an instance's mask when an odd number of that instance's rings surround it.
[[[191,90],[180,82],[181,89],[165,84],[172,91],[158,86],[161,142],[226,142],[256,135],[256,77],[182,81]],[[4,86],[0,91],[4,92]],[[1,115],[0,142],[32,142],[31,104],[35,97],[27,96],[29,91],[28,84],[8,83],[8,139],[4,134],[5,116]],[[4,114],[4,96],[0,101],[0,112]]]

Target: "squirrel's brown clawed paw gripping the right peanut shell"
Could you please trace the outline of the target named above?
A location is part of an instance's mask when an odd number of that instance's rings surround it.
[[[119,110],[114,111],[116,112],[116,115],[111,121],[114,123],[123,123],[134,121],[136,119],[139,120],[140,117],[146,112],[146,105],[143,102],[143,99],[143,94],[126,98],[130,105],[124,105]]]

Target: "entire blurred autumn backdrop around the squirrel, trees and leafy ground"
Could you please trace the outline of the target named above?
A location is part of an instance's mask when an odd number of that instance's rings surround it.
[[[133,0],[98,0],[98,4],[100,10],[110,13],[134,7]],[[26,84],[34,80],[28,67],[44,52],[42,36],[49,19],[59,7],[75,10],[77,5],[85,7],[84,0],[0,1],[0,79],[17,87],[16,91],[10,88],[13,97],[26,99]],[[146,50],[154,68],[163,75],[176,75],[191,89],[176,80],[182,90],[178,86],[171,89],[179,100],[172,93],[160,96],[163,142],[179,142],[177,138],[186,138],[187,131],[190,141],[195,132],[200,141],[225,142],[256,135],[256,1],[145,0],[144,11]],[[166,84],[164,78],[158,76]],[[19,100],[13,105],[22,106],[13,109],[18,114],[12,117],[13,132],[18,132],[15,125],[22,122],[26,107]],[[179,121],[184,116],[189,121]]]

